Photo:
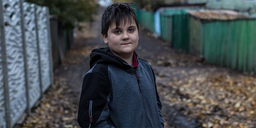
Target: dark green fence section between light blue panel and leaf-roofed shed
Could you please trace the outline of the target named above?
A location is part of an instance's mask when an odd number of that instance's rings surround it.
[[[189,52],[188,14],[186,9],[165,9],[160,14],[161,38],[174,49]]]

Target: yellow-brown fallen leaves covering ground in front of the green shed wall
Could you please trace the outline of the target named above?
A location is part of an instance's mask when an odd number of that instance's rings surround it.
[[[183,106],[182,113],[199,119],[203,127],[255,127],[255,76],[217,68],[153,67],[165,102]],[[171,72],[171,74],[170,74]],[[169,74],[169,75],[166,75]],[[172,90],[164,89],[171,87]]]

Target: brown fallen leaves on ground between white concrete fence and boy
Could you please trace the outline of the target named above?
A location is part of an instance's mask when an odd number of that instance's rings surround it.
[[[54,84],[44,93],[38,106],[32,108],[31,115],[26,117],[24,123],[14,127],[79,128],[77,110],[80,93],[75,93],[68,83],[69,78],[59,75],[58,71],[68,70],[70,65],[81,63],[82,58],[89,57],[95,47],[86,46],[68,51],[66,59],[54,72]]]

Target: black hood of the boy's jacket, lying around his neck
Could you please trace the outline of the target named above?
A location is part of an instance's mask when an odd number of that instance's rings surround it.
[[[138,55],[136,52],[134,52],[136,57],[138,58]],[[92,53],[90,54],[90,68],[93,67],[96,63],[104,63],[104,64],[114,64],[120,68],[128,69],[131,68],[131,65],[129,65],[127,62],[125,62],[122,58],[116,56],[112,52],[110,52],[110,48],[99,48],[99,49],[93,49]]]

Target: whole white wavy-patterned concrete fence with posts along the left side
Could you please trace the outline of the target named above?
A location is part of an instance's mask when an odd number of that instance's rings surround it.
[[[0,127],[13,127],[52,80],[48,8],[0,0]]]

